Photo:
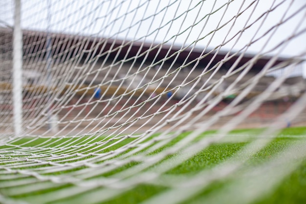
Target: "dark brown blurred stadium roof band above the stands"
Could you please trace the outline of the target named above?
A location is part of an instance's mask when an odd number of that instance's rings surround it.
[[[3,32],[12,32],[12,30],[0,29],[0,33]],[[51,33],[49,36],[52,42],[52,54],[58,57],[73,57],[76,53],[80,54],[80,49],[83,50],[83,58],[86,58],[88,54],[90,54],[91,57],[92,55],[99,55],[101,59],[108,56],[109,59],[116,58],[116,61],[123,59],[132,61],[136,59],[136,61],[142,62],[144,58],[146,58],[147,64],[148,62],[151,63],[153,60],[157,62],[163,59],[172,63],[175,57],[177,57],[177,63],[183,63],[188,57],[187,62],[200,58],[197,68],[202,68],[211,61],[216,53],[216,50],[205,50],[205,57],[202,58],[203,48],[198,47],[192,48],[190,46],[182,49],[181,47],[171,46],[169,44],[151,44],[141,41],[124,41],[121,39],[96,38],[58,33]],[[35,56],[37,56],[37,54],[44,55],[46,53],[46,39],[46,32],[24,30],[24,53],[30,55],[34,54]],[[211,66],[223,60],[226,54],[227,53],[224,51],[219,51],[214,57]],[[226,68],[229,68],[236,62],[240,53],[231,53],[231,55],[232,56],[226,60]],[[238,67],[253,59],[254,56],[253,54],[244,54],[240,59]],[[257,71],[262,69],[270,59],[271,57],[269,56],[260,56],[260,58],[255,61],[252,69]],[[278,58],[275,64],[279,64],[285,60],[288,59]]]

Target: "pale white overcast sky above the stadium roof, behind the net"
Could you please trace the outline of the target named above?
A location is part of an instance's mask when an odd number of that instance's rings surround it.
[[[197,40],[198,47],[209,48],[224,42],[224,51],[233,46],[234,51],[240,50],[259,39],[248,53],[263,50],[272,56],[282,49],[282,56],[306,58],[305,0],[230,1],[227,5],[228,0],[22,0],[22,27],[175,45]],[[1,0],[1,22],[13,24],[13,2]],[[262,16],[268,9],[272,11]],[[270,30],[281,21],[281,26]],[[285,47],[274,49],[299,32],[282,44]]]

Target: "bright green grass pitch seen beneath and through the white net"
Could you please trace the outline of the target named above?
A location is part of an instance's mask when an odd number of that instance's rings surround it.
[[[196,155],[192,156],[189,159],[184,160],[179,165],[176,165],[174,168],[167,170],[162,174],[162,178],[165,180],[175,177],[176,179],[194,179],[197,175],[200,175],[201,172],[204,171],[212,171],[214,168],[218,167],[219,164],[228,161],[235,155],[239,154],[243,149],[248,147],[258,135],[262,133],[262,129],[247,129],[247,130],[235,130],[232,131],[226,139],[223,139],[221,142],[212,143],[206,149],[198,152]],[[203,133],[198,136],[193,143],[197,143],[203,137],[214,136],[215,131],[209,131]],[[177,142],[181,141],[183,138],[188,136],[190,133],[182,134],[176,137],[171,142],[167,143],[165,146],[156,149],[154,152],[150,153],[151,155],[158,155],[159,153],[167,150],[168,148],[175,145]],[[135,138],[126,138],[121,142],[116,144],[116,141],[109,141],[107,144],[108,148],[101,145],[97,149],[92,149],[93,146],[90,144],[94,144],[99,142],[101,138],[95,138],[90,141],[89,146],[86,137],[77,139],[73,138],[38,138],[35,140],[30,140],[29,138],[22,138],[16,140],[7,145],[0,146],[0,203],[1,198],[3,201],[11,201],[12,203],[19,201],[24,201],[26,203],[48,203],[47,199],[51,195],[57,195],[58,193],[65,192],[63,189],[73,189],[75,187],[74,183],[52,183],[51,181],[43,181],[43,179],[37,179],[36,175],[26,175],[26,171],[29,172],[39,172],[41,176],[70,176],[73,173],[82,172],[82,170],[86,168],[90,168],[88,166],[78,166],[76,165],[74,168],[68,168],[63,171],[56,172],[47,172],[44,169],[48,167],[54,166],[53,163],[65,164],[67,162],[75,163],[77,161],[82,161],[84,159],[93,159],[94,155],[90,156],[87,153],[90,151],[94,151],[95,153],[103,154],[108,153],[109,151],[116,150],[125,144],[129,144]],[[150,138],[152,139],[152,138]],[[150,140],[148,139],[148,140]],[[263,138],[264,139],[264,138]],[[112,144],[113,145],[110,145]],[[65,144],[69,144],[69,148],[66,148],[65,151],[61,151],[60,147],[65,146]],[[263,193],[256,188],[256,184],[264,187],[265,181],[269,180],[269,175],[273,175],[273,173],[269,173],[269,169],[265,170],[260,168],[259,173],[256,175],[253,173],[253,170],[257,169],[260,166],[266,165],[269,163],[271,159],[276,158],[278,155],[281,155],[285,152],[287,148],[293,147],[296,148],[306,148],[306,127],[295,127],[295,128],[286,128],[281,131],[275,138],[268,142],[264,148],[258,151],[256,154],[247,158],[245,162],[243,162],[242,167],[230,174],[230,176],[221,178],[221,179],[212,179],[208,183],[207,186],[199,187],[193,196],[189,196],[187,199],[183,199],[181,203],[184,204],[200,204],[200,203],[219,203],[226,201],[226,196],[231,194],[231,191],[239,191],[241,190],[241,198],[242,194],[245,192],[252,192],[252,185],[245,185],[243,183],[250,183],[258,180],[254,184],[255,193],[260,192],[260,196],[255,194],[255,199],[247,200],[247,203],[252,204],[302,204],[306,203],[306,158],[305,155],[302,158],[298,158],[299,164],[294,168],[290,174],[281,177],[281,181],[278,181],[273,187],[268,188],[269,190],[264,191]],[[71,146],[71,147],[70,147]],[[52,159],[53,163],[37,163],[32,162],[33,165],[23,165],[23,164],[31,164],[32,160],[22,160],[27,158],[28,154],[19,154],[22,148],[30,148],[39,149],[41,147],[41,151],[37,155],[41,155],[42,158],[36,158],[37,160],[43,160],[44,157],[50,156],[50,152],[52,149],[57,150],[54,155],[60,155],[65,152],[65,154],[71,154],[69,158],[70,161],[66,161],[66,159]],[[124,153],[120,153],[116,158],[120,158],[127,154],[127,152],[132,151],[129,149]],[[145,150],[143,150],[145,151]],[[143,152],[142,151],[142,152]],[[75,152],[79,154],[83,154],[84,156],[76,156]],[[298,152],[298,151],[297,151]],[[16,155],[14,155],[16,153]],[[139,154],[139,153],[137,153]],[[158,163],[145,168],[144,171],[154,172],[155,168],[158,171],[158,165],[164,161],[171,161],[175,157],[178,157],[179,153],[169,154],[167,157],[163,158]],[[281,157],[282,158],[282,157]],[[19,160],[17,160],[19,159]],[[243,159],[243,158],[241,158]],[[111,159],[109,159],[111,160]],[[106,161],[109,161],[106,160]],[[63,162],[62,162],[63,161]],[[103,161],[103,162],[106,162]],[[97,163],[102,163],[102,161],[97,161]],[[90,181],[94,181],[95,179],[99,180],[101,178],[117,178],[120,176],[122,172],[126,172],[129,169],[139,165],[140,162],[131,161],[124,165],[113,168],[112,170],[105,171],[103,174],[99,175],[89,175]],[[167,163],[167,162],[166,162]],[[11,164],[11,165],[9,165]],[[16,164],[16,165],[14,165]],[[282,167],[282,164],[280,164]],[[283,167],[284,169],[287,166]],[[273,168],[276,174],[278,168]],[[281,168],[280,168],[281,170]],[[24,171],[24,172],[23,172]],[[249,174],[252,172],[252,174]],[[203,174],[204,175],[204,174]],[[266,178],[267,176],[267,178]],[[259,179],[258,179],[259,178]],[[161,178],[159,178],[161,179]],[[86,180],[86,179],[85,179]],[[253,181],[254,180],[254,181]],[[188,180],[186,180],[188,181]],[[252,182],[251,182],[252,181]],[[165,184],[166,183],[166,184]],[[268,183],[268,182],[267,182]],[[46,185],[44,185],[46,184]],[[34,186],[42,186],[35,188]],[[27,186],[33,190],[25,190]],[[45,187],[47,186],[47,187]],[[186,188],[186,187],[185,187]],[[246,189],[249,188],[249,189]],[[76,203],[86,203],[86,199],[91,196],[99,195],[99,190],[103,189],[103,186],[96,187],[92,191],[84,191],[78,193],[77,195],[68,196],[64,195],[63,199],[59,197],[59,199],[54,199],[52,203],[67,203],[67,204],[76,204]],[[126,188],[125,191],[118,194],[117,196],[111,197],[105,202],[107,204],[136,204],[136,203],[150,203],[151,199],[159,197],[159,195],[163,195],[167,192],[172,191],[173,189],[177,190],[177,192],[184,192],[184,188],[179,189],[172,186],[171,183],[167,183],[167,181],[161,182],[140,182],[132,185],[131,188]],[[187,190],[192,190],[193,187],[186,188]],[[237,194],[237,192],[236,192]],[[179,197],[179,195],[177,195]],[[161,197],[162,198],[162,197]],[[6,200],[5,200],[6,199]],[[174,198],[175,199],[175,198]],[[223,199],[223,200],[222,200]],[[237,198],[239,201],[239,198]],[[154,200],[152,200],[154,201]],[[240,200],[241,203],[244,203],[243,199]],[[50,203],[50,202],[49,202]],[[101,203],[101,202],[98,202]],[[232,202],[233,203],[233,202]],[[238,202],[239,203],[239,202]]]

